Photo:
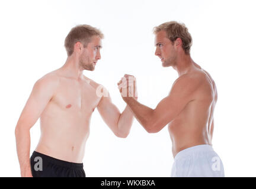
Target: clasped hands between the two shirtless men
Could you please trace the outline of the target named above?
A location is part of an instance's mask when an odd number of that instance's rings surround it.
[[[133,97],[137,100],[137,82],[135,76],[125,74],[117,85],[124,101],[129,97]]]

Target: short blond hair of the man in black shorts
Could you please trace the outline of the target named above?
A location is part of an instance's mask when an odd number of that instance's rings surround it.
[[[76,42],[79,41],[84,44],[84,47],[87,47],[94,35],[104,38],[103,33],[97,28],[91,27],[91,25],[83,24],[73,27],[65,39],[65,48],[68,56],[71,56],[73,53],[73,47]]]

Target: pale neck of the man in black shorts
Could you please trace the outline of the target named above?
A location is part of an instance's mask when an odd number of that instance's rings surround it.
[[[84,69],[79,65],[79,59],[75,56],[69,56],[60,69],[62,69],[66,77],[72,77],[76,80],[82,79]]]

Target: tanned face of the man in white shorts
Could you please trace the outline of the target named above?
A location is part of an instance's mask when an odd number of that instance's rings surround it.
[[[171,40],[167,38],[167,33],[161,30],[155,35],[155,55],[161,58],[162,66],[169,67],[176,64],[177,52]]]

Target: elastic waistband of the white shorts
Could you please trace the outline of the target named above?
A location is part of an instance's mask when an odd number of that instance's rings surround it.
[[[174,161],[183,157],[187,157],[188,155],[191,155],[194,152],[209,152],[209,151],[214,151],[212,145],[203,144],[203,145],[192,146],[190,148],[186,148],[178,152],[178,154],[174,158]]]

